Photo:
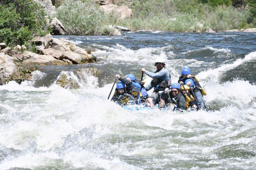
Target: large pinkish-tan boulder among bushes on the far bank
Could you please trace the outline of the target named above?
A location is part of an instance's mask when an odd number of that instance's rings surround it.
[[[106,14],[116,14],[120,19],[124,19],[125,17],[131,17],[132,10],[128,8],[128,6],[117,6],[114,4],[100,6],[100,8],[105,11]]]

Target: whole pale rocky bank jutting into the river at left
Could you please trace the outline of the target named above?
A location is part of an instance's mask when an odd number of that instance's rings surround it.
[[[0,85],[9,81],[18,83],[32,79],[32,72],[38,65],[73,65],[95,62],[96,57],[90,51],[74,45],[65,39],[56,39],[51,35],[35,37],[37,53],[26,51],[25,48],[15,47],[17,50],[0,43]]]

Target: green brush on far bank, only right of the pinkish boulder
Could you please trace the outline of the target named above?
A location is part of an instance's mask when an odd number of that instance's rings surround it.
[[[256,0],[133,0],[133,17],[115,24],[173,32],[253,28]],[[242,1],[242,0],[241,0]],[[254,2],[255,1],[255,2]],[[233,6],[237,6],[235,8]]]

